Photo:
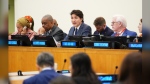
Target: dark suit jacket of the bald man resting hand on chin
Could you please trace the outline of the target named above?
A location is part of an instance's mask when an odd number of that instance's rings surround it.
[[[64,37],[63,37],[64,33],[59,27],[53,26],[51,29],[51,32],[50,33],[48,33],[48,32],[45,32],[44,35],[48,34],[50,36],[53,36],[56,41],[61,41],[64,39]]]

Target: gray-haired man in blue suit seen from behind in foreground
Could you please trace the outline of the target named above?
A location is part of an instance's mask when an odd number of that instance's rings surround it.
[[[23,81],[23,84],[48,84],[59,74],[55,72],[54,58],[51,54],[43,52],[37,57],[37,67],[39,74]]]

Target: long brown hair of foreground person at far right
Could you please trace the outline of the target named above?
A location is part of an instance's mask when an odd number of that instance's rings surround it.
[[[119,82],[126,84],[142,84],[142,54],[129,53],[122,62]]]

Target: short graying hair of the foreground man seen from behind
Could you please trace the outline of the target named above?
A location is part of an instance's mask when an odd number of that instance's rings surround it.
[[[54,66],[54,58],[50,53],[47,52],[42,52],[38,57],[37,57],[37,64],[42,67],[43,65],[45,66]]]

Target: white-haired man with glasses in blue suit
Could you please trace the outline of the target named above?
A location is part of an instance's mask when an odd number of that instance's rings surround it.
[[[126,28],[127,22],[122,15],[113,16],[111,26],[115,32],[111,36],[137,36],[136,32],[130,31]]]

